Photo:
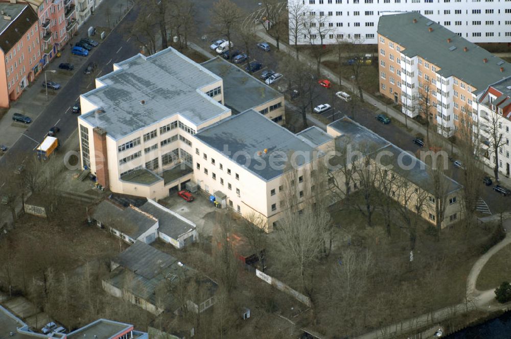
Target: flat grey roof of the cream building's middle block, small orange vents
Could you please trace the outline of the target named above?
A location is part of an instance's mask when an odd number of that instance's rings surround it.
[[[285,157],[294,152],[303,154],[296,157],[299,166],[318,156],[309,143],[252,109],[208,126],[195,137],[266,181],[285,172],[279,166],[284,167]]]

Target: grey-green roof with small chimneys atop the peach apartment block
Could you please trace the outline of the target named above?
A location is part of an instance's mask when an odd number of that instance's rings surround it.
[[[429,28],[433,31],[429,32]],[[380,16],[378,33],[403,46],[406,50],[401,53],[407,57],[420,56],[440,67],[438,74],[445,78],[455,76],[478,91],[511,76],[511,64],[416,12]],[[451,42],[447,42],[448,38]]]

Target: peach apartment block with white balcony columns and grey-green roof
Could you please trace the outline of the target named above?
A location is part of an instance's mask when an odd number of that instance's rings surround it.
[[[446,137],[474,123],[489,84],[511,76],[511,64],[418,13],[381,16],[378,51],[380,93],[410,117],[426,118],[428,106]]]

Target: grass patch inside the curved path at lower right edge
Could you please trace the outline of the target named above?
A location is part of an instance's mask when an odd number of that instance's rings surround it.
[[[477,278],[476,288],[479,290],[495,288],[502,281],[511,281],[511,245],[495,253],[486,262]]]

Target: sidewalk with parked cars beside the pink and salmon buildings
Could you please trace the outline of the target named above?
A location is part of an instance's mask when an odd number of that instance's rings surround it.
[[[77,36],[73,37],[72,43],[78,42],[81,38],[87,36],[87,29],[93,27],[107,27],[107,16],[106,7],[110,8],[110,30],[107,35],[118,24],[118,18],[124,17],[127,14],[126,11],[126,0],[108,0],[103,1],[99,5],[98,9],[91,15],[87,21],[78,29]],[[132,7],[130,7],[131,9]],[[101,43],[100,38],[101,31],[98,30],[95,36],[92,38]],[[97,47],[96,47],[97,48]],[[94,53],[94,50],[91,51]],[[14,123],[12,121],[12,114],[21,113],[28,115],[35,120],[39,114],[52,102],[57,95],[58,91],[65,91],[65,85],[75,75],[75,72],[79,71],[83,64],[88,62],[88,58],[78,57],[71,54],[71,49],[66,46],[61,51],[62,56],[60,58],[55,57],[49,64],[45,65],[43,71],[37,76],[34,82],[29,84],[24,89],[24,93],[19,97],[17,101],[11,102],[11,107],[0,120],[0,143],[5,144],[10,148],[20,137],[21,133],[24,133],[27,128],[32,124],[21,124]],[[74,64],[74,70],[69,71],[65,69],[59,69],[58,66],[62,62],[68,62]],[[47,72],[47,80],[55,81],[60,83],[61,88],[57,91],[48,89],[48,100],[46,98],[46,90],[42,87],[44,82],[44,71],[54,70],[55,72]]]

